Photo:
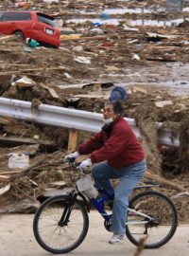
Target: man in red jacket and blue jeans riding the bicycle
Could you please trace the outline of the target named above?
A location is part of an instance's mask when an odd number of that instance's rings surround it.
[[[107,101],[104,106],[104,122],[101,132],[77,148],[77,152],[66,155],[90,155],[82,161],[80,168],[92,167],[94,183],[99,192],[113,196],[112,238],[110,244],[126,238],[126,220],[129,194],[146,173],[146,160],[142,146],[129,123],[122,117],[119,101]],[[111,179],[119,179],[114,189]]]

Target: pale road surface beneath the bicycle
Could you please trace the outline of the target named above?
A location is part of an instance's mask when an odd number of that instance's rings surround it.
[[[0,255],[1,256],[47,256],[33,236],[33,215],[2,214],[0,215]],[[189,255],[189,225],[180,226],[173,239],[164,247],[144,250],[143,256],[186,256]],[[111,233],[103,228],[103,222],[95,211],[90,214],[90,229],[84,242],[72,251],[71,255],[88,256],[133,256],[136,250],[128,240],[122,244],[107,243]]]

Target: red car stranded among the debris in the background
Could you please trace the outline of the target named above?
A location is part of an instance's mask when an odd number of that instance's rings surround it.
[[[41,45],[60,46],[60,29],[55,20],[37,11],[0,11],[0,34],[31,38]]]

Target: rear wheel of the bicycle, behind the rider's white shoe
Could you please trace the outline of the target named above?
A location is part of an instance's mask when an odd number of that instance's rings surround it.
[[[140,221],[145,221],[146,217],[128,214],[128,222],[139,221],[138,225],[126,226],[126,235],[135,246],[139,246],[141,239],[144,238],[145,248],[158,248],[173,237],[178,227],[178,213],[172,201],[163,193],[141,192],[130,200],[129,208],[145,213],[155,220],[140,224]]]

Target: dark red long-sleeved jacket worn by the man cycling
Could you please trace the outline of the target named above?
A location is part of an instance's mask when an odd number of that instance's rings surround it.
[[[145,158],[140,142],[125,119],[115,119],[110,130],[102,128],[81,144],[77,149],[79,155],[91,154],[93,163],[107,160],[113,168],[129,166]]]

